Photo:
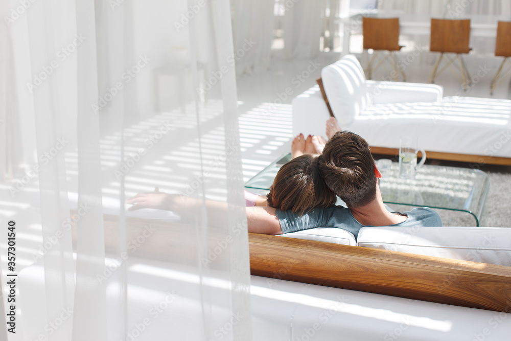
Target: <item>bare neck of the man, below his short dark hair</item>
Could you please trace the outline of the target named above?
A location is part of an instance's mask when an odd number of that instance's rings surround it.
[[[399,224],[407,218],[387,211],[378,185],[376,185],[376,198],[373,201],[362,207],[350,207],[350,210],[353,217],[362,225],[389,226]]]

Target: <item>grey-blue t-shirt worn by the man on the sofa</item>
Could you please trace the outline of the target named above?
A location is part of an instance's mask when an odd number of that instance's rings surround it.
[[[372,226],[359,223],[353,217],[350,209],[343,206],[314,208],[302,216],[291,211],[281,210],[276,210],[275,214],[281,224],[282,233],[314,228],[338,228],[353,233],[357,238],[361,228]],[[390,226],[442,226],[442,219],[440,219],[438,213],[430,208],[417,207],[411,211],[406,211],[404,214],[407,215],[405,221]]]

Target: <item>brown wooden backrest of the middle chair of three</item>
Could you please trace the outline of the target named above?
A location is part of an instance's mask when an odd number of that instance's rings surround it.
[[[430,51],[469,53],[469,43],[470,19],[431,19]]]

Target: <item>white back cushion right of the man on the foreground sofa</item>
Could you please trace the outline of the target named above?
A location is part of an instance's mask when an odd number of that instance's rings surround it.
[[[357,245],[511,266],[511,228],[367,227]]]

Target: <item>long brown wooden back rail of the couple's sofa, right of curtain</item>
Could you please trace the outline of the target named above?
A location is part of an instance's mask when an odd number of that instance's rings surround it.
[[[249,233],[252,275],[511,312],[511,267]]]

